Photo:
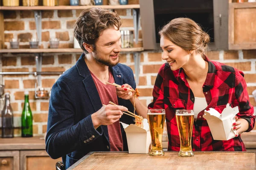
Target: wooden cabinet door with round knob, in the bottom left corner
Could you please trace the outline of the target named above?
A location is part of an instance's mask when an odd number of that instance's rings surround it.
[[[0,170],[19,170],[20,153],[14,151],[0,151]]]

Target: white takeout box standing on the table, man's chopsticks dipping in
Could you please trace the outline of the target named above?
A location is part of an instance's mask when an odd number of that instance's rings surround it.
[[[125,129],[129,153],[148,153],[151,143],[148,120],[143,119],[143,128],[134,124],[122,123],[122,125]]]

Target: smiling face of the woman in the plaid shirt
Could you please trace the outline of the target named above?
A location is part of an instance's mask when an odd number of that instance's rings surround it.
[[[163,50],[162,59],[169,63],[172,71],[182,68],[189,60],[189,52],[175,45],[172,41],[162,36],[160,47]]]

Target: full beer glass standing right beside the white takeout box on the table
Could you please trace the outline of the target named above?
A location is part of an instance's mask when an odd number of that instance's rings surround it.
[[[163,156],[163,127],[165,122],[165,110],[164,109],[149,109],[148,110],[148,123],[151,134],[151,150],[150,156]]]

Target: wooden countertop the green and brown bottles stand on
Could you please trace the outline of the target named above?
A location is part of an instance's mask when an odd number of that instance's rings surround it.
[[[0,150],[38,150],[45,149],[43,137],[0,138]]]

